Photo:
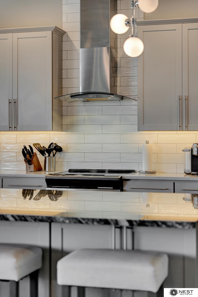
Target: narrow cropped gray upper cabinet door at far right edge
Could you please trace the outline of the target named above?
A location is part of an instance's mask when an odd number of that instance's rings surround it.
[[[198,130],[198,24],[182,25],[183,130]]]

